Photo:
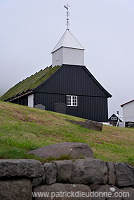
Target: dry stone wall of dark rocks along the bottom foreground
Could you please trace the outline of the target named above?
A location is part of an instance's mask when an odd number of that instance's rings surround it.
[[[44,193],[48,197],[39,197]],[[59,196],[59,194],[61,194]],[[72,194],[70,197],[64,195]],[[93,192],[129,192],[129,197],[89,197]],[[73,195],[77,194],[76,197]],[[134,168],[125,163],[86,158],[53,161],[0,160],[0,200],[133,200]]]

